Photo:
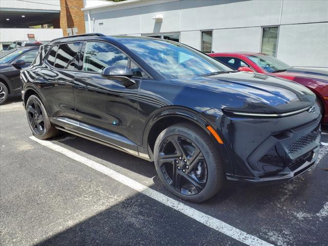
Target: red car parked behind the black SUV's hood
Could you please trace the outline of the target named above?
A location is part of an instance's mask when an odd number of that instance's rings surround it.
[[[324,123],[328,123],[328,71],[293,68],[281,60],[261,53],[211,53],[210,56],[238,70],[258,72],[293,80],[317,95]]]

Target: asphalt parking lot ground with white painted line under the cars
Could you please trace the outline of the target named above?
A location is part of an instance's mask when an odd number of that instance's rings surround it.
[[[188,203],[153,163],[69,134],[30,138],[19,96],[0,107],[1,245],[327,245],[328,128],[292,181],[227,182]],[[149,189],[150,188],[150,189]]]

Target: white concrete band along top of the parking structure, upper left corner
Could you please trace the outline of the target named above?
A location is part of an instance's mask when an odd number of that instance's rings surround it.
[[[1,8],[9,9],[42,9],[42,10],[60,10],[59,0],[33,0],[29,2],[17,0],[0,0]],[[46,4],[45,4],[46,3]]]

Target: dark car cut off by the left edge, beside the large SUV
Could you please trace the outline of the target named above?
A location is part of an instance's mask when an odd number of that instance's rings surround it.
[[[0,56],[0,105],[9,94],[20,93],[20,69],[31,65],[38,50],[39,47],[18,48]]]

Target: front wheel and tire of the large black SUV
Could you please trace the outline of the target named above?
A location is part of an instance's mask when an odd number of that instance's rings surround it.
[[[155,142],[154,161],[160,180],[187,201],[207,200],[222,189],[226,173],[221,160],[210,136],[193,124],[170,126]]]

